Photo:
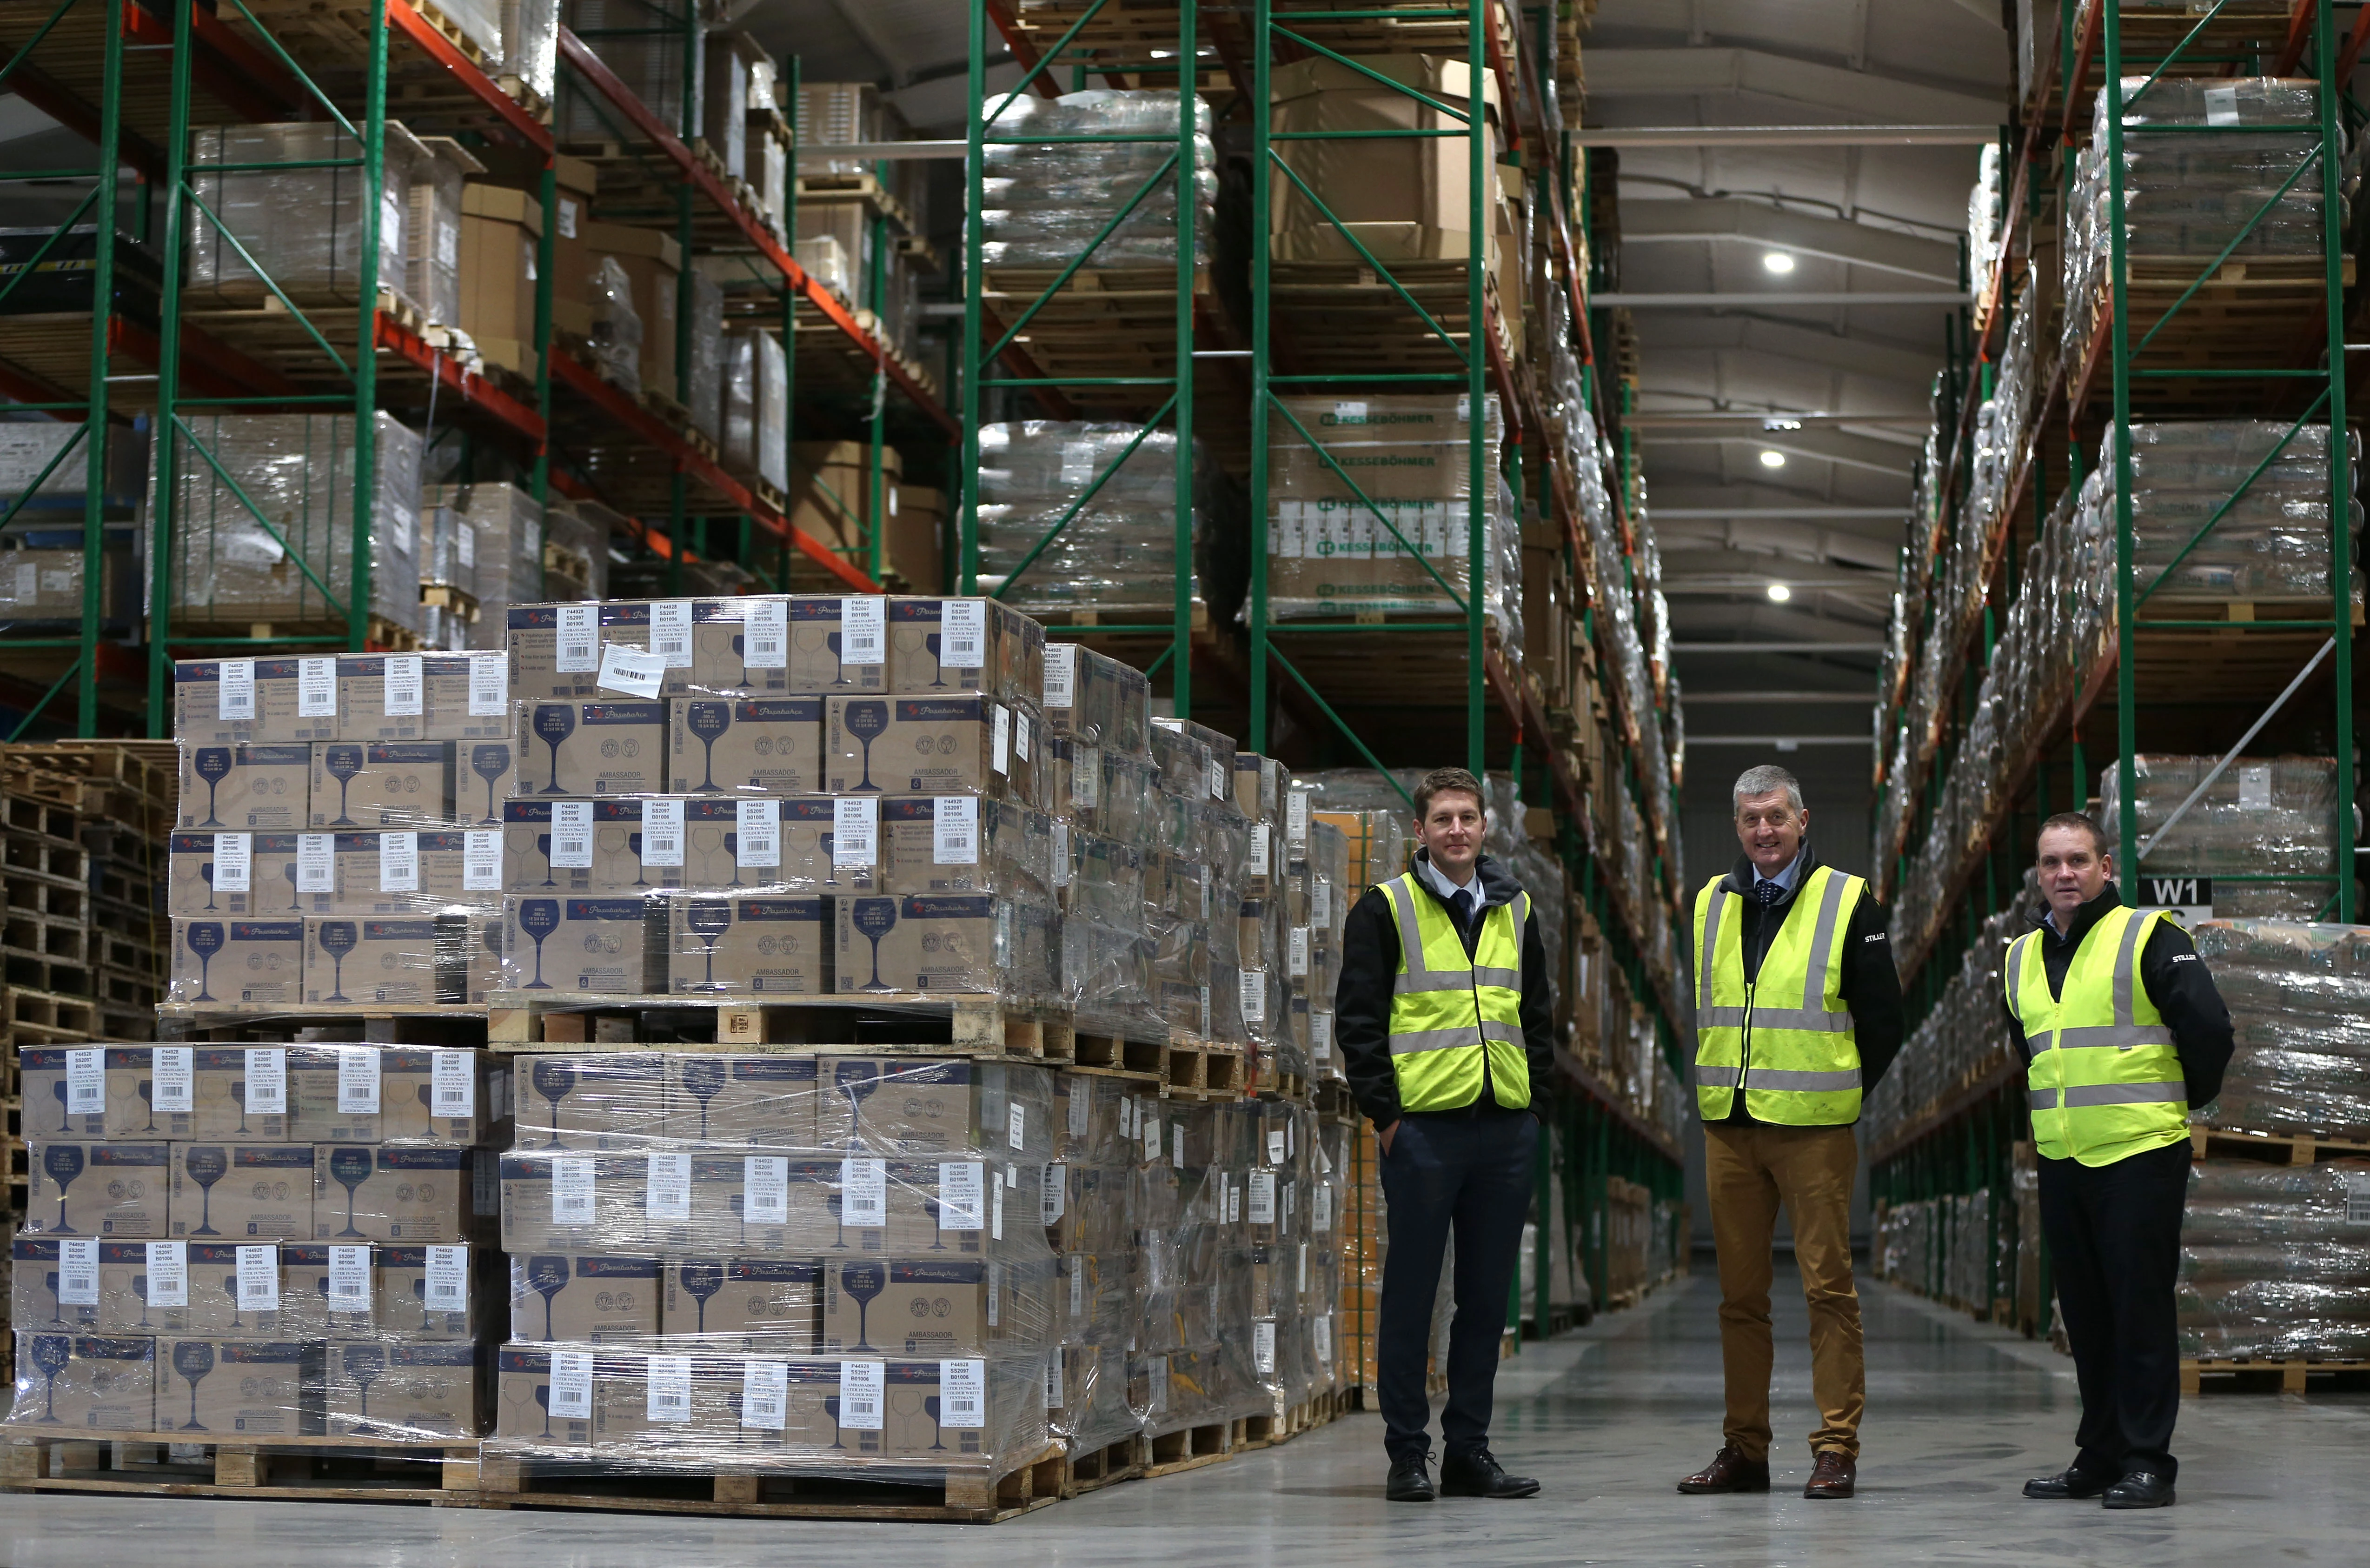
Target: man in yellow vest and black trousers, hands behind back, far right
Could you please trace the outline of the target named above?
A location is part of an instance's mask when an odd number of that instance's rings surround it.
[[[2188,933],[2126,910],[2090,817],[2036,846],[2048,919],[2007,945],[2000,981],[2024,1052],[2041,1156],[2041,1234],[2074,1345],[2074,1464],[2026,1497],[2109,1509],[2173,1502],[2180,1341],[2173,1284],[2190,1189],[2190,1106],[2221,1094],[2230,1009]]]

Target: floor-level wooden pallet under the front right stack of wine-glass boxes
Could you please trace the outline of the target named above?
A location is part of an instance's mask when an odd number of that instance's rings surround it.
[[[1003,1523],[1062,1499],[1062,1454],[998,1473],[882,1466],[879,1480],[801,1473],[784,1464],[697,1471],[626,1459],[538,1459],[493,1440],[469,1502],[483,1509],[616,1509],[735,1518],[856,1518],[898,1523]]]

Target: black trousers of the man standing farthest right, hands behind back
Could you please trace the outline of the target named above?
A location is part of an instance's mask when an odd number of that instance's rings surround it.
[[[2188,1191],[2188,1139],[2114,1165],[2041,1161],[2041,1232],[2081,1381],[2074,1469],[2083,1473],[2171,1480],[2178,1471],[2173,1281]]]

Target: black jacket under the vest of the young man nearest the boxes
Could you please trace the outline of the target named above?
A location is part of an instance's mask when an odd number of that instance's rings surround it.
[[[1415,857],[1424,860],[1427,850],[1417,850]],[[1514,902],[1514,893],[1522,893],[1522,883],[1488,855],[1481,855],[1474,872],[1481,886],[1481,910]],[[1415,888],[1417,895],[1446,910],[1448,900],[1431,888],[1429,876],[1415,876]],[[1472,957],[1474,943],[1481,940],[1479,914],[1477,910],[1477,919],[1462,933],[1465,957]],[[1391,898],[1382,888],[1367,888],[1351,905],[1349,921],[1341,928],[1341,985],[1334,990],[1334,1045],[1341,1047],[1341,1071],[1349,1078],[1351,1097],[1377,1127],[1389,1127],[1401,1116],[1398,1075],[1391,1071],[1391,978],[1396,973],[1398,921],[1391,919]],[[1522,926],[1522,1047],[1531,1063],[1533,1104],[1545,1092],[1548,1075],[1555,1071],[1552,1014],[1548,945],[1538,938],[1538,905],[1531,905],[1531,919]],[[1484,1068],[1481,1094],[1474,1104],[1455,1111],[1413,1111],[1410,1116],[1491,1113],[1517,1116],[1517,1111],[1498,1104],[1488,1071]]]

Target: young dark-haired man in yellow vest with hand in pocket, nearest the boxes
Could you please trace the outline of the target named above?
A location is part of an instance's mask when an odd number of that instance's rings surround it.
[[[1481,853],[1481,779],[1439,767],[1415,789],[1415,865],[1367,888],[1341,933],[1334,1040],[1375,1123],[1391,1251],[1375,1383],[1391,1502],[1431,1502],[1424,1360],[1441,1251],[1458,1239],[1439,1490],[1529,1497],[1488,1452],[1498,1334],[1531,1210],[1531,1097],[1555,1066],[1548,957],[1531,898]]]

